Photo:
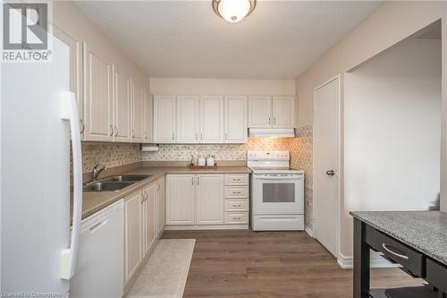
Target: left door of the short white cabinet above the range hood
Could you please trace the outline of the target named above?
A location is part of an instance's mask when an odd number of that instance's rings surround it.
[[[249,127],[272,127],[272,97],[249,97]]]

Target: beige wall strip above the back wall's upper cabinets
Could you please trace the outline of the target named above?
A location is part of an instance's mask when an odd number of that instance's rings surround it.
[[[152,94],[295,95],[294,80],[150,78]]]

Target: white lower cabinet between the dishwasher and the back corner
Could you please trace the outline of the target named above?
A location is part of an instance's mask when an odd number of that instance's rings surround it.
[[[163,233],[164,176],[129,195],[125,199],[124,215],[125,286]]]

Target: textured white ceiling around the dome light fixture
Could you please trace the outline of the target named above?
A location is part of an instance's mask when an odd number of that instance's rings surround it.
[[[80,10],[152,77],[292,79],[382,4],[257,1],[247,19],[211,1],[81,1]]]

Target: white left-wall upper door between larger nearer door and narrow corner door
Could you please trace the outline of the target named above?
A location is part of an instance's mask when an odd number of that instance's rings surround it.
[[[114,67],[114,141],[131,140],[131,77]]]

